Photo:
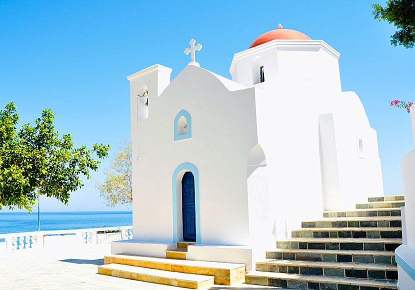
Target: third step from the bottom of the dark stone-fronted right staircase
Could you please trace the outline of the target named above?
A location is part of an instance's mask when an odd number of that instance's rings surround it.
[[[380,250],[276,248],[266,251],[265,257],[267,259],[396,264],[394,251]]]

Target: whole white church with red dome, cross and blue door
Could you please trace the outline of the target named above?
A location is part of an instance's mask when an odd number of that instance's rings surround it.
[[[188,260],[250,270],[302,220],[383,195],[376,131],[341,90],[333,47],[271,30],[233,55],[229,79],[195,44],[172,80],[160,64],[127,77],[134,238],[112,253],[166,257],[188,241]]]

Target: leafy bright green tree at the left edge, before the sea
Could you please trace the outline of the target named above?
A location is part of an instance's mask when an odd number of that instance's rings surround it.
[[[91,154],[104,158],[109,145],[74,148],[70,134],[60,138],[55,131],[50,109],[42,111],[34,126],[23,123],[17,130],[18,119],[13,102],[0,110],[0,209],[17,206],[31,212],[38,195],[67,204],[70,192],[83,186],[80,174],[90,178],[89,171],[100,164]]]

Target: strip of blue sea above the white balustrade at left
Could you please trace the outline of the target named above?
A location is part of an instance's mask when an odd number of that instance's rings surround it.
[[[132,225],[132,211],[40,212],[40,230],[123,225]],[[37,229],[37,212],[0,212],[0,234]]]

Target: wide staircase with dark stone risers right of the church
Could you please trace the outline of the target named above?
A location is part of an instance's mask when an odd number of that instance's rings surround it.
[[[355,210],[303,221],[266,251],[245,283],[294,289],[397,289],[394,250],[402,243],[403,195],[369,197]]]

